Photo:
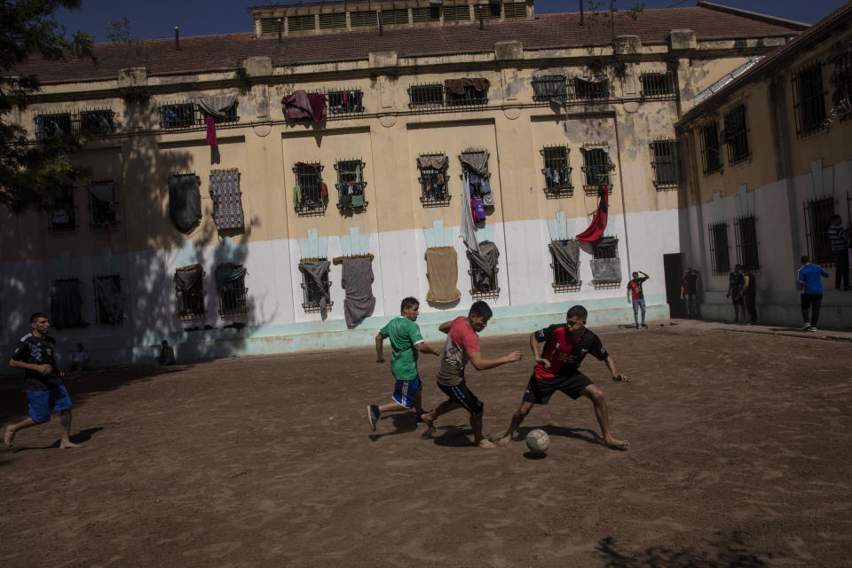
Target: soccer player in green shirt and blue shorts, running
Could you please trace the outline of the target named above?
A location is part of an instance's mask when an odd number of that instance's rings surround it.
[[[420,375],[417,374],[417,354],[432,353],[440,356],[440,353],[423,341],[417,316],[420,314],[420,302],[417,298],[407,297],[399,306],[400,316],[391,319],[386,326],[375,335],[375,361],[384,363],[384,340],[390,337],[390,373],[396,379],[393,386],[393,402],[386,405],[367,406],[367,419],[370,421],[370,430],[375,432],[375,422],[379,416],[386,412],[401,412],[403,410],[414,410],[417,416],[423,414],[421,405],[422,383]]]

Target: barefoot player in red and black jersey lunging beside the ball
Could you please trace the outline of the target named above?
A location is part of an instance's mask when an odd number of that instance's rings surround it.
[[[627,440],[612,437],[604,393],[586,375],[580,373],[580,363],[586,353],[591,353],[606,363],[613,381],[630,381],[627,375],[619,374],[615,361],[604,349],[604,344],[598,336],[586,328],[587,316],[586,308],[575,305],[568,310],[564,325],[556,324],[530,334],[530,347],[533,349],[536,366],[524,391],[521,406],[512,416],[509,430],[498,441],[501,446],[509,444],[517,427],[533,410],[533,405],[548,404],[556,390],[562,390],[574,400],[580,396],[589,398],[595,405],[595,415],[601,425],[604,444],[613,448],[628,446]],[[543,350],[541,343],[544,343]]]

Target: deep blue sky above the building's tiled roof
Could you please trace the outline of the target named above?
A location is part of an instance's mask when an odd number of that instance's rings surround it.
[[[603,0],[605,5],[609,3]],[[208,36],[251,31],[249,6],[289,4],[289,0],[263,2],[262,0],[147,0],[146,2],[116,2],[115,0],[83,0],[80,10],[57,12],[57,19],[69,30],[81,30],[95,37],[96,42],[106,42],[106,27],[111,21],[130,20],[130,33],[134,37],[154,39],[173,37],[174,27],[180,27],[181,36]],[[616,0],[616,7],[627,8],[634,0]],[[673,5],[694,6],[697,0],[645,0],[646,8],[668,8]],[[843,0],[717,0],[752,12],[761,12],[788,20],[809,24],[817,22],[832,12]],[[579,0],[535,0],[536,11],[576,12]]]

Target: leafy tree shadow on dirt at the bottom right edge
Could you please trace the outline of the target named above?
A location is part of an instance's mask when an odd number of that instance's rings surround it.
[[[642,551],[621,548],[612,537],[597,543],[606,568],[761,568],[777,555],[757,552],[746,543],[747,533],[716,533],[715,537],[687,548],[650,547]]]

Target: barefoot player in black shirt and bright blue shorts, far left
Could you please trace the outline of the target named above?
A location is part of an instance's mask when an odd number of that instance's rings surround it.
[[[24,392],[29,401],[29,416],[17,424],[6,426],[4,444],[12,447],[18,430],[48,422],[51,420],[51,411],[59,411],[59,425],[62,427],[59,447],[80,447],[69,437],[71,398],[68,398],[68,391],[60,378],[65,373],[56,367],[56,359],[53,359],[56,340],[47,335],[51,322],[45,314],[36,312],[30,316],[29,325],[33,331],[20,338],[18,349],[9,360],[10,367],[24,369]]]

